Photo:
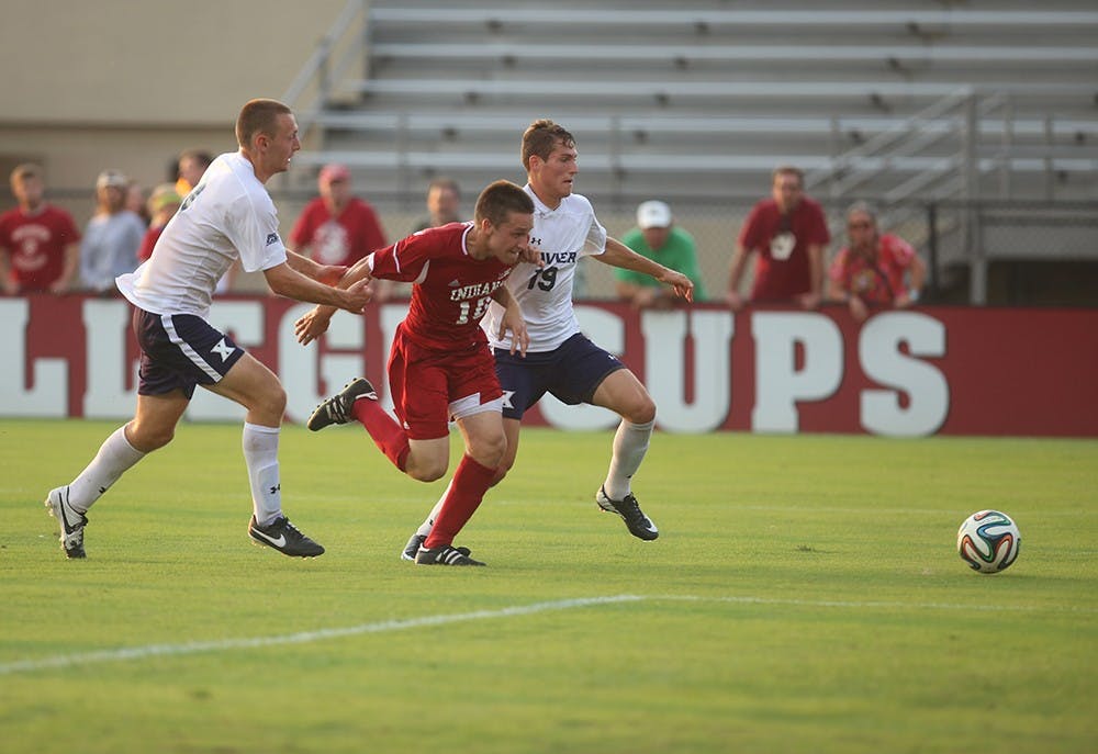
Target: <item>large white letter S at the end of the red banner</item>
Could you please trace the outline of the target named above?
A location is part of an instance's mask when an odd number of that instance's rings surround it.
[[[907,342],[910,356],[900,351]],[[861,396],[862,427],[875,435],[933,435],[950,409],[950,386],[932,364],[912,357],[945,356],[945,326],[918,312],[887,312],[871,318],[858,339],[865,376],[896,390],[867,390]],[[899,393],[908,395],[903,407]]]

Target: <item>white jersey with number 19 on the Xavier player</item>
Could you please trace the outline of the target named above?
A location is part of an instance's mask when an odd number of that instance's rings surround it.
[[[527,350],[551,351],[580,331],[572,308],[575,266],[581,257],[606,250],[606,228],[598,223],[586,196],[569,194],[556,210],[550,210],[529,184],[525,191],[534,199],[530,246],[540,249],[545,266],[519,262],[507,279],[507,288],[523,307],[530,336]],[[498,338],[502,317],[503,307],[493,302],[481,323],[493,348],[511,348],[507,340]]]

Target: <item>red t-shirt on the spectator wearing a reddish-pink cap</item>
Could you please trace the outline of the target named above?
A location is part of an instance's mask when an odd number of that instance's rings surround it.
[[[335,218],[323,199],[311,201],[293,226],[290,243],[300,254],[309,247],[307,256],[322,265],[348,267],[388,246],[373,207],[354,196]]]

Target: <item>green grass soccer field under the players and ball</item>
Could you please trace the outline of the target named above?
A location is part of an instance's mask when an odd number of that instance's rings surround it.
[[[301,561],[249,543],[239,427],[183,425],[68,562],[42,499],[115,426],[0,423],[5,754],[1098,750],[1098,441],[658,434],[641,542],[609,434],[526,430],[448,570],[397,559],[442,483],[360,430],[283,431]]]

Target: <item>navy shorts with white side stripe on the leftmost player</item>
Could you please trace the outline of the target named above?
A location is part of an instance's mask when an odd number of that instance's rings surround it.
[[[228,374],[244,349],[193,314],[153,314],[134,307],[141,346],[138,395],[179,389],[190,398],[195,385],[212,385]]]

